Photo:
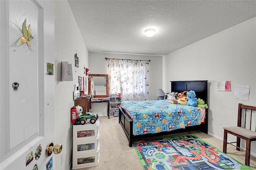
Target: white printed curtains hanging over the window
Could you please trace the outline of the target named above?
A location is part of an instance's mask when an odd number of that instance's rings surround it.
[[[148,100],[149,61],[108,59],[109,93],[122,100]]]

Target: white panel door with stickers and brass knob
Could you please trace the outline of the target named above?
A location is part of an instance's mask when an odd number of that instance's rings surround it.
[[[55,169],[54,1],[0,1],[0,169]]]

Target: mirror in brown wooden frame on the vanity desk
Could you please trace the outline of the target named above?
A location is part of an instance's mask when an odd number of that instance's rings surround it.
[[[108,74],[89,74],[88,93],[94,97],[108,97]]]

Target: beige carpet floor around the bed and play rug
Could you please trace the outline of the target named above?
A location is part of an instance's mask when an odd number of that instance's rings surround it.
[[[100,120],[100,161],[97,166],[79,168],[77,170],[143,170],[134,147],[128,146],[128,139],[124,134],[118,117],[99,117]],[[218,140],[203,132],[193,131],[202,140],[222,150],[223,141]],[[244,164],[245,152],[237,151],[229,145],[227,154]],[[250,166],[256,169],[256,158],[251,156]]]

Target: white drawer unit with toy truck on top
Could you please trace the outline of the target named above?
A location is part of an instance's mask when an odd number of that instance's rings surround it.
[[[100,158],[100,121],[85,125],[73,125],[72,169],[97,166]]]

